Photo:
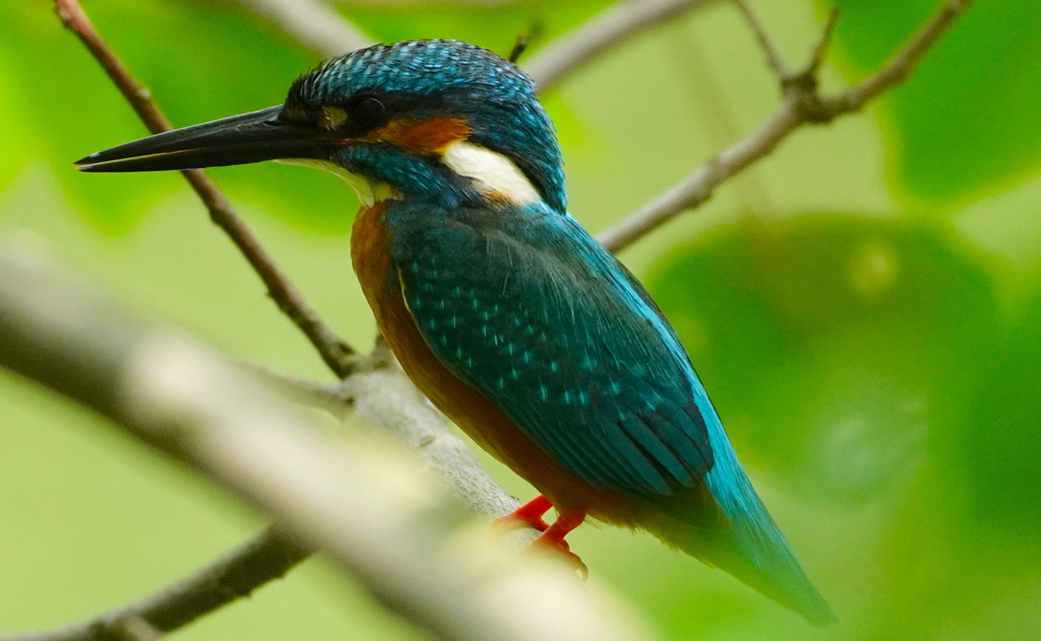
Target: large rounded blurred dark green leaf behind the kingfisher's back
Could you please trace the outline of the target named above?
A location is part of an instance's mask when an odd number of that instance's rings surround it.
[[[844,502],[934,454],[995,334],[981,267],[902,221],[738,224],[677,250],[650,285],[738,451]]]

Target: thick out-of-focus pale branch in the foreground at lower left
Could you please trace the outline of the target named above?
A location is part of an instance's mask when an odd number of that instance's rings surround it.
[[[518,559],[486,523],[465,525],[468,512],[402,448],[365,430],[348,445],[224,357],[39,261],[0,251],[0,366],[269,513],[434,637],[540,641],[550,620],[565,641],[645,638],[562,566]],[[358,381],[366,400],[377,395]]]

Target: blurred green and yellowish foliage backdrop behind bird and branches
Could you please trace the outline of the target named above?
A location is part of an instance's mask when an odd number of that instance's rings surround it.
[[[938,0],[839,4],[829,87],[869,73]],[[340,7],[380,40],[462,37],[506,52],[535,22],[537,49],[605,5]],[[805,59],[827,7],[754,6],[792,65]],[[231,2],[86,7],[178,125],[278,103],[316,61]],[[839,616],[816,631],[649,536],[577,532],[591,581],[664,637],[1041,638],[1039,54],[1041,11],[980,0],[906,87],[796,133],[624,254]],[[328,380],[180,177],[72,170],[145,132],[48,2],[0,4],[0,237],[237,357]],[[605,228],[777,102],[728,3],[641,34],[545,96],[572,211]],[[212,175],[310,302],[370,344],[348,187],[273,163]],[[261,524],[96,416],[0,373],[0,632],[128,601]],[[310,560],[177,638],[422,635]]]

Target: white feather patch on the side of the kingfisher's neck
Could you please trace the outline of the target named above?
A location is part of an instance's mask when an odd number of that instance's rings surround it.
[[[512,160],[479,145],[456,140],[441,152],[441,161],[457,175],[468,178],[482,195],[514,205],[531,205],[542,200]]]

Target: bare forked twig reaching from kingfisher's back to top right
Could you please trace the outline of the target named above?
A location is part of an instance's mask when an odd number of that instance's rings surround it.
[[[697,207],[735,174],[770,154],[796,129],[809,124],[829,123],[861,109],[871,99],[906,81],[921,58],[940,40],[972,0],[949,0],[924,27],[881,70],[861,83],[835,96],[822,96],[817,86],[820,57],[831,33],[829,20],[807,69],[782,78],[784,100],[777,111],[758,129],[711,158],[697,171],[598,238],[617,252],[657,229],[679,213]]]

